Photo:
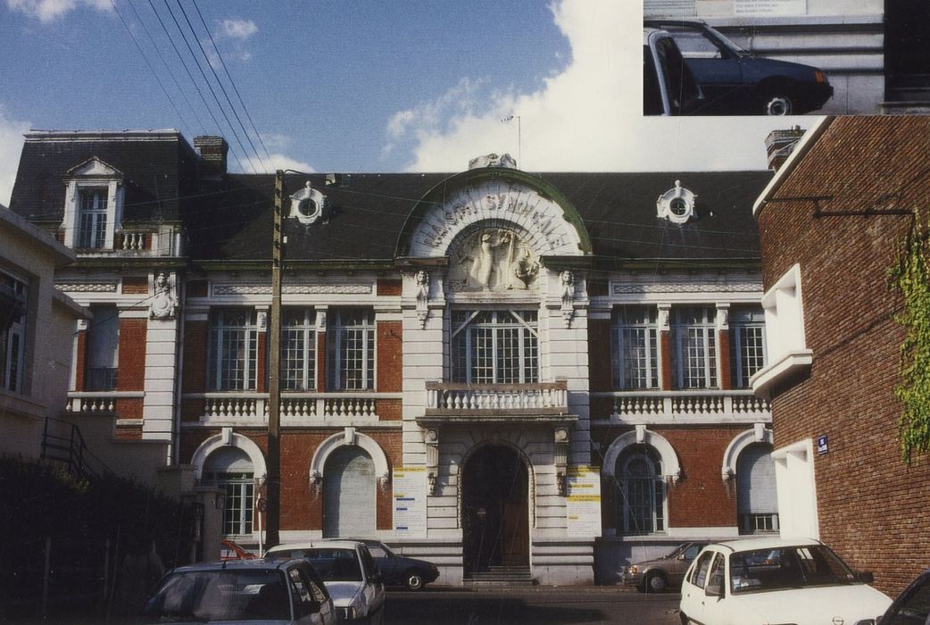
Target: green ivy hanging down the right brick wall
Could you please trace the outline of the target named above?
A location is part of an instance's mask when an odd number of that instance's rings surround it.
[[[896,320],[907,335],[901,344],[900,381],[895,395],[902,403],[899,420],[901,458],[905,462],[930,451],[930,239],[911,232],[902,246],[890,285],[904,297]]]

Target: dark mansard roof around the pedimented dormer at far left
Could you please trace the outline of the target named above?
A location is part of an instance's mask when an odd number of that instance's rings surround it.
[[[178,198],[196,189],[197,155],[177,130],[42,130],[25,139],[10,208],[31,221],[60,221],[66,180],[92,160],[122,174],[125,221],[177,220]]]

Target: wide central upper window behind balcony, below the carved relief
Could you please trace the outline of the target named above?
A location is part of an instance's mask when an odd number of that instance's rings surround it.
[[[538,382],[536,311],[454,311],[452,379],[470,384]]]

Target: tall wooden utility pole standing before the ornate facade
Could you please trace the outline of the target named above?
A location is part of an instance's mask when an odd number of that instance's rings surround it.
[[[285,172],[274,172],[272,233],[272,311],[268,324],[268,479],[265,509],[265,549],[281,542],[281,232],[285,203]]]

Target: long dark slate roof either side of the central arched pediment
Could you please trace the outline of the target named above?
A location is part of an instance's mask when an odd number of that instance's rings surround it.
[[[392,260],[413,207],[450,175],[346,174],[336,186],[326,186],[323,174],[286,177],[287,194],[310,180],[332,208],[326,223],[285,219],[286,258]],[[538,176],[578,210],[600,259],[760,259],[751,206],[769,171]],[[681,226],[657,217],[658,195],[675,180],[697,193],[698,219]],[[273,188],[272,176],[233,175],[207,194],[187,220],[193,258],[270,259]]]

